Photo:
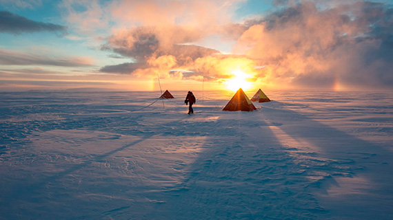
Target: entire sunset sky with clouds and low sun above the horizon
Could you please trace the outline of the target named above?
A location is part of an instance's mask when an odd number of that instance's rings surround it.
[[[0,0],[0,91],[157,91],[159,81],[393,90],[393,2]]]

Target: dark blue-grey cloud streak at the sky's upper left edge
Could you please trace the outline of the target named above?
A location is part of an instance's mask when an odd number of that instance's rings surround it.
[[[0,11],[0,32],[10,34],[57,32],[60,34],[66,34],[66,30],[67,27],[63,25],[55,25],[53,23],[44,23],[41,21],[32,21],[18,14]]]

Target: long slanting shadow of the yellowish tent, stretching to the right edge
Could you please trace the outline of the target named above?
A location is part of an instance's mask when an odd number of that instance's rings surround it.
[[[382,146],[312,120],[297,111],[288,109],[285,103],[276,102],[274,108],[265,107],[265,110],[263,115],[266,121],[282,124],[279,127],[286,134],[295,140],[307,140],[319,147],[318,153],[332,159],[369,159],[372,162],[387,162],[384,161],[387,159],[384,157],[392,156],[392,153]],[[287,121],[296,123],[289,124],[286,123]],[[379,158],[372,159],[376,156]]]

